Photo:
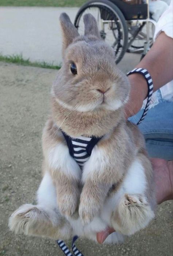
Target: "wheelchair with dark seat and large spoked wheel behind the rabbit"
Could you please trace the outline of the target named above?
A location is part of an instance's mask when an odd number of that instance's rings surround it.
[[[82,5],[74,21],[80,34],[86,13],[96,18],[101,38],[114,49],[116,64],[126,52],[145,56],[153,44],[156,22],[150,18],[149,0],[91,0]]]

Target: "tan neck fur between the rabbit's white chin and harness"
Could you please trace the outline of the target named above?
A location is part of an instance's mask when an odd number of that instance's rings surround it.
[[[78,112],[70,111],[52,99],[53,119],[57,126],[72,137],[96,136],[101,137],[123,119],[122,110]]]

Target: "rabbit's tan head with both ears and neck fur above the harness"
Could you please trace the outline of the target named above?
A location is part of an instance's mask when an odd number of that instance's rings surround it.
[[[61,14],[60,23],[63,64],[52,88],[55,122],[69,133],[67,120],[61,125],[63,119],[69,119],[67,112],[71,117],[74,115],[75,119],[78,117],[81,123],[78,121],[77,124],[80,127],[83,117],[85,122],[88,116],[91,119],[93,116],[101,118],[106,115],[108,120],[116,115],[117,119],[128,99],[130,86],[126,76],[116,67],[114,50],[101,39],[96,20],[91,14],[84,15],[84,36],[78,34],[67,14]],[[61,117],[60,112],[64,113]],[[93,125],[96,126],[96,123]],[[70,120],[67,125],[73,126]],[[110,128],[109,122],[107,126]],[[77,134],[87,134],[82,128],[79,130]],[[90,129],[87,135],[96,134]]]

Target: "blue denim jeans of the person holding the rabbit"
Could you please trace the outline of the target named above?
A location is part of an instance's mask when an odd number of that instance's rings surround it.
[[[137,123],[143,110],[129,120]],[[138,126],[142,131],[150,157],[173,160],[173,102],[159,99]]]

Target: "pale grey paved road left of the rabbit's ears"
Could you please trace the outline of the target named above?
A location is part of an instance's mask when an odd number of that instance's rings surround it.
[[[78,8],[0,7],[0,53],[22,53],[31,61],[61,63],[59,15],[67,12],[72,22]]]

